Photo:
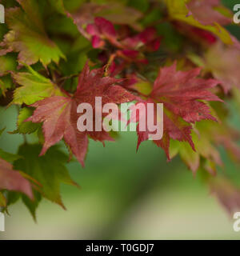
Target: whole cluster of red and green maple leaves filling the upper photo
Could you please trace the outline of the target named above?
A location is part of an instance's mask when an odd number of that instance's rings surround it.
[[[89,103],[95,114],[96,97],[102,106],[162,103],[163,136],[154,144],[168,161],[179,154],[194,174],[204,174],[228,211],[240,205],[238,189],[218,174],[219,146],[240,163],[239,134],[224,103],[240,102],[240,42],[226,29],[233,14],[220,1],[156,0],[147,10],[119,2],[2,3],[0,105],[18,106],[10,134],[34,134],[39,142],[26,142],[18,155],[0,150],[0,206],[7,210],[6,194],[15,193],[34,218],[42,197],[64,207],[60,183],[78,185],[56,144],[65,142],[84,166],[90,139],[114,142],[105,130],[77,128],[78,105]],[[139,129],[142,118],[128,120],[137,122],[137,148],[151,133]]]

